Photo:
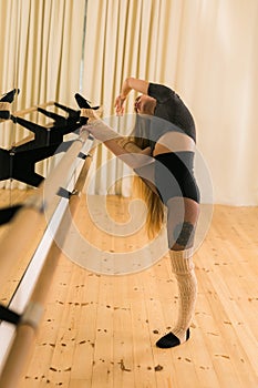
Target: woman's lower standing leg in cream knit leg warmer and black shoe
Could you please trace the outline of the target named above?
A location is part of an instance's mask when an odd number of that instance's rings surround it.
[[[158,347],[174,347],[189,338],[189,326],[197,296],[197,280],[192,255],[193,249],[169,251],[172,268],[177,279],[179,308],[174,329],[156,343]]]

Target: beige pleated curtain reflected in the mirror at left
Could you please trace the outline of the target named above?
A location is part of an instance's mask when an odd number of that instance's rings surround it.
[[[0,0],[0,94],[20,89],[13,111],[47,101],[78,109],[85,6],[85,0]],[[1,123],[0,146],[25,134]],[[45,175],[48,166],[41,163],[38,172]]]

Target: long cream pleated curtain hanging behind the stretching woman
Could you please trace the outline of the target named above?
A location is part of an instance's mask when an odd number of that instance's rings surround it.
[[[203,188],[210,178],[214,202],[257,205],[258,1],[89,0],[86,27],[83,92],[104,115],[128,75],[169,85],[196,120]],[[100,150],[96,167],[106,159]],[[109,190],[116,170],[94,190]]]

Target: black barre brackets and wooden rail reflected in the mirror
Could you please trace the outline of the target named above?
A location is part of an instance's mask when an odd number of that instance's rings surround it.
[[[65,114],[55,113],[56,109]],[[37,121],[44,124],[24,119],[31,114],[33,118],[37,114]],[[0,180],[14,178],[32,186],[39,186],[43,181],[43,176],[34,171],[35,164],[64,151],[63,147],[68,149],[70,142],[64,141],[64,135],[75,133],[81,126],[79,110],[53,101],[13,112],[6,121],[9,121],[9,130],[13,131],[16,125],[21,125],[30,134],[8,149],[0,147]],[[10,126],[11,123],[13,124]]]

